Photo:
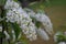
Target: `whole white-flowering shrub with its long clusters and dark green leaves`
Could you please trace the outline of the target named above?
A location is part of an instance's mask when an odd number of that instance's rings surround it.
[[[53,24],[44,12],[23,9],[18,0],[0,0],[1,44],[28,44],[37,35],[48,41],[48,34],[53,34]]]

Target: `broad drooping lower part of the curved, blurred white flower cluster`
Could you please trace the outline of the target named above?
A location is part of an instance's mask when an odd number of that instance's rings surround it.
[[[35,19],[40,22],[42,22],[42,24],[44,25],[44,29],[45,31],[48,33],[48,34],[53,34],[53,25],[51,23],[51,20],[47,15],[45,14],[41,14],[41,13],[37,13],[35,14]]]

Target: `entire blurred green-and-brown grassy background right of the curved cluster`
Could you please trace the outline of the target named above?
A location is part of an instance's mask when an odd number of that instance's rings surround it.
[[[66,31],[66,0],[51,0],[45,3],[46,12],[52,19],[55,31]]]

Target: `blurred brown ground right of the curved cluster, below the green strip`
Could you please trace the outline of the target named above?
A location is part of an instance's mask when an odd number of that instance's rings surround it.
[[[54,31],[66,31],[66,7],[51,7],[45,8],[48,16],[51,18]]]

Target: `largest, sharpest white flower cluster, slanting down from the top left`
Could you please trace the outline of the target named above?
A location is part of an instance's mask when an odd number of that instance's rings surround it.
[[[7,9],[7,22],[16,22],[22,29],[23,33],[30,41],[36,40],[35,26],[32,19],[21,8],[21,6],[13,0],[8,0],[4,9]]]

